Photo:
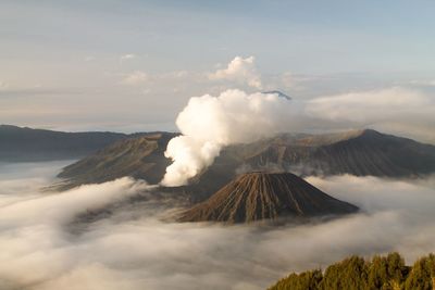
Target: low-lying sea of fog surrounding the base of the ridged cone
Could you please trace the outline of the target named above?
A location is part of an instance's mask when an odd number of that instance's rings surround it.
[[[122,178],[62,193],[39,189],[64,163],[0,165],[0,289],[264,289],[293,270],[349,254],[435,251],[435,178],[308,180],[363,213],[324,224],[159,222],[156,204],[122,207],[71,230],[78,214],[147,190]]]

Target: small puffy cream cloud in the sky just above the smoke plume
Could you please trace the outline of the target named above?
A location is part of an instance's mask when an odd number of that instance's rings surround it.
[[[238,84],[246,84],[252,88],[261,89],[261,76],[257,72],[254,58],[236,56],[231,61],[226,68],[217,70],[215,73],[209,74],[212,80],[231,80]]]

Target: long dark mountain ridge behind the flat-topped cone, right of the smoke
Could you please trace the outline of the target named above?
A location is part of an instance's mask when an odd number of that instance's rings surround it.
[[[415,177],[435,172],[435,147],[375,130],[283,134],[226,148],[187,189],[194,202],[210,197],[238,173],[294,172],[300,176]]]

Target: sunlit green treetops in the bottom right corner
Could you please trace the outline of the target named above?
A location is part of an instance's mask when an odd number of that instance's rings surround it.
[[[374,256],[365,261],[350,256],[320,269],[290,274],[269,290],[433,290],[435,286],[435,255],[406,266],[398,253]]]

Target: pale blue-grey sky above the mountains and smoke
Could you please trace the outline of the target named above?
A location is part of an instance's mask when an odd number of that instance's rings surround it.
[[[399,89],[427,106],[434,13],[433,1],[2,0],[0,124],[176,130],[189,98],[226,89],[307,102]]]

